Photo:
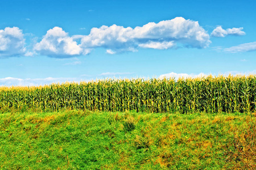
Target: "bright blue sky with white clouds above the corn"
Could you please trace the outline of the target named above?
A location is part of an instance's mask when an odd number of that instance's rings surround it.
[[[0,86],[256,74],[256,2],[2,0]]]

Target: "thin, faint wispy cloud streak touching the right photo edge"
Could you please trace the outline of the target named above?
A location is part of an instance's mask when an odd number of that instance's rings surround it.
[[[250,52],[250,51],[255,51],[255,50],[256,50],[256,41],[245,43],[245,44],[240,44],[237,46],[232,46],[230,48],[224,49],[225,52],[230,52],[230,53]]]

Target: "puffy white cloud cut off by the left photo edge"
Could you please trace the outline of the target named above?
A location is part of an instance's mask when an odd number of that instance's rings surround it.
[[[23,55],[25,39],[18,27],[0,29],[0,58]]]

